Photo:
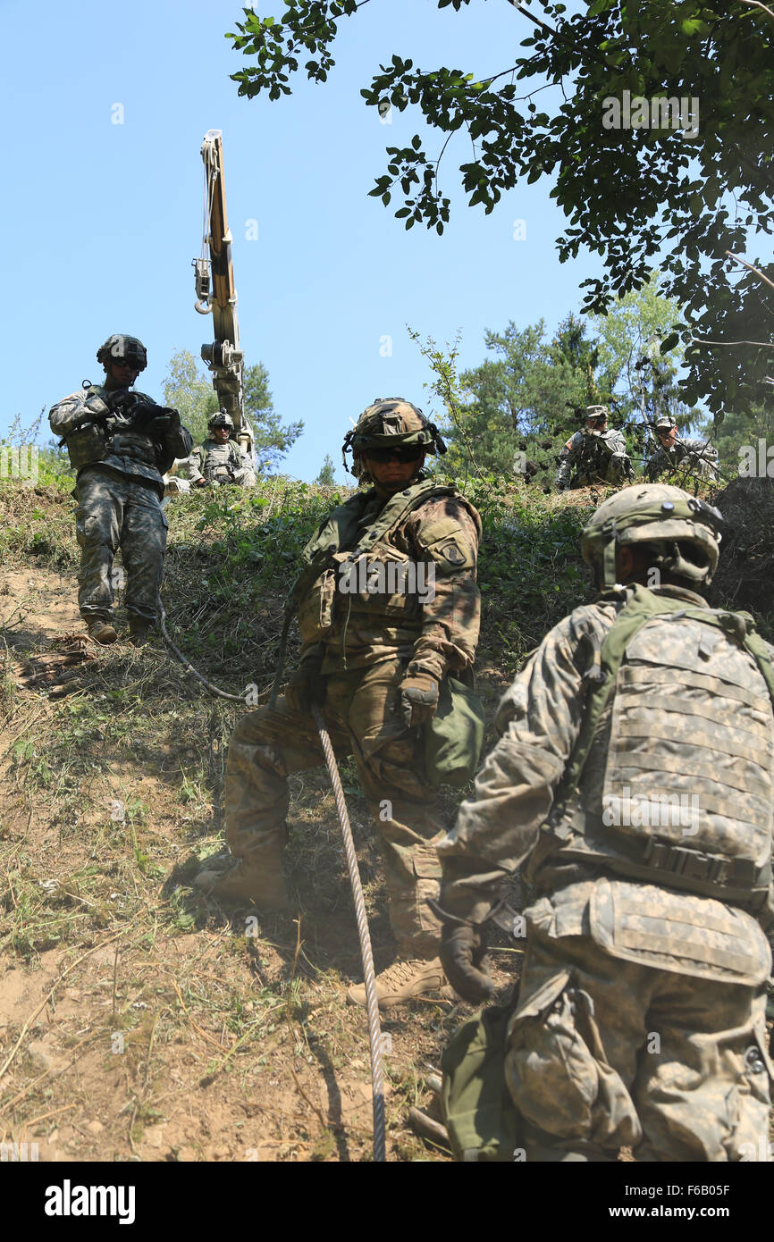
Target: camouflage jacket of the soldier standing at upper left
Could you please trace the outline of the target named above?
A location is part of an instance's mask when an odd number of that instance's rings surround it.
[[[82,424],[99,420],[98,425],[104,428],[107,436],[106,452],[99,461],[81,467],[78,476],[83,469],[99,466],[101,471],[153,487],[159,496],[163,496],[164,481],[159,465],[166,469],[164,458],[171,466],[175,457],[188,457],[193,446],[190,433],[183,426],[170,427],[160,436],[149,436],[134,430],[130,417],[107,412],[108,407],[103,400],[107,391],[102,385],[92,384],[91,388],[78,389],[63,401],[58,401],[48,414],[52,432],[67,440]],[[144,392],[138,396],[154,404]],[[102,419],[101,416],[106,414],[107,417]]]

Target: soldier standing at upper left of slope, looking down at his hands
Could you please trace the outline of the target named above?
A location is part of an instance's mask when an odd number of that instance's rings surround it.
[[[99,347],[97,361],[104,368],[104,384],[84,384],[51,409],[48,421],[53,433],[63,436],[77,471],[81,616],[97,642],[118,637],[112,568],[121,548],[129,637],[139,646],[155,622],[166,549],[162,474],[175,457],[188,457],[193,442],[176,410],[130,391],[148,365],[142,340],[114,333]]]

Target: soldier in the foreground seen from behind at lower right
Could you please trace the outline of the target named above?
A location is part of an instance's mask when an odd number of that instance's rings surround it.
[[[528,1160],[769,1159],[774,648],[698,594],[721,523],[676,487],[600,507],[581,549],[603,594],[506,693],[439,845],[441,959],[470,1001],[501,879],[528,859],[537,889],[504,1057]]]

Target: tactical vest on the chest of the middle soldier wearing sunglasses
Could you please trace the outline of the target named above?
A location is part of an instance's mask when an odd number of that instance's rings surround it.
[[[421,479],[391,497],[374,520],[362,529],[364,513],[375,491],[358,492],[338,505],[303,551],[302,570],[292,599],[298,607],[298,627],[307,643],[324,640],[339,610],[347,610],[353,626],[381,619],[396,627],[396,637],[415,635],[421,627],[422,586],[417,574],[427,563],[417,563],[395,545],[394,535],[409,514],[437,496],[453,497],[475,517],[476,510],[455,487]],[[452,518],[440,518],[422,530],[426,546],[448,539],[457,529]],[[414,575],[414,576],[412,576]]]

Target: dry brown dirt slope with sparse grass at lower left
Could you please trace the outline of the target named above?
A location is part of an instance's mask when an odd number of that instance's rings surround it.
[[[20,688],[78,628],[76,590],[71,569],[34,561],[0,580],[0,1141],[41,1160],[370,1159],[365,1015],[344,1004],[357,932],[323,774],[293,781],[294,915],[195,897],[234,712],[160,643],[89,645],[58,699]],[[384,892],[343,775],[379,969]],[[507,982],[516,958],[498,956]],[[390,1159],[442,1159],[406,1114],[431,1103],[424,1074],[467,1012],[426,1000],[385,1018]]]

